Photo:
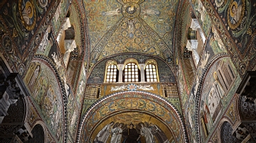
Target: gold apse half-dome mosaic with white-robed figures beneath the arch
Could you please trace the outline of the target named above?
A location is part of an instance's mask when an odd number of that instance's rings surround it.
[[[122,127],[119,127],[119,124],[122,124]],[[124,142],[128,139],[127,133],[130,124],[134,125],[136,132],[133,132],[133,135],[137,136],[139,142],[175,142],[173,131],[169,127],[151,115],[142,115],[139,112],[119,113],[113,118],[105,120],[92,133],[90,142],[110,142],[115,139],[114,134],[118,132],[122,132],[120,134],[122,135],[121,142]]]

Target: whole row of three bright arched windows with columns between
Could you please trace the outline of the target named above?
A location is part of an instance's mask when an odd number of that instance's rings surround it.
[[[129,58],[123,64],[110,60],[106,64],[105,83],[114,82],[157,82],[159,81],[157,64],[149,59],[139,64],[137,59]]]

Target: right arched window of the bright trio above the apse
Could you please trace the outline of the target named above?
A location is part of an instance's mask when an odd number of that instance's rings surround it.
[[[155,60],[150,59],[150,60],[146,61],[146,66],[144,69],[145,69],[145,80],[147,82],[157,82],[158,81]]]

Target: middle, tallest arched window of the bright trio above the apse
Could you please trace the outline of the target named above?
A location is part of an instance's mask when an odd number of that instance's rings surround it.
[[[124,82],[139,82],[140,70],[136,59],[127,59],[124,62],[123,81]]]

